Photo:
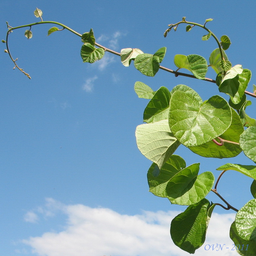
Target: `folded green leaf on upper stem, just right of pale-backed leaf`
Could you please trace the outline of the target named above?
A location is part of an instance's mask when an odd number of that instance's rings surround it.
[[[166,52],[166,47],[162,47],[155,54],[139,54],[134,60],[134,66],[143,75],[155,76],[159,70],[159,64],[162,62]]]

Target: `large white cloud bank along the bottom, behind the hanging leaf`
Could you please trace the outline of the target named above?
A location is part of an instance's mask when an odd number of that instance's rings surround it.
[[[33,252],[45,256],[187,256],[170,237],[171,220],[179,213],[142,212],[130,216],[106,208],[90,208],[82,204],[64,205],[53,199],[51,209],[67,214],[63,231],[30,237],[23,243]],[[48,202],[49,203],[49,202]],[[49,205],[48,205],[49,206]],[[48,207],[46,206],[46,208]],[[235,214],[212,214],[207,239],[195,256],[237,255],[231,251],[229,227]],[[226,244],[222,251],[204,250],[206,244]],[[226,247],[229,246],[229,249]],[[207,248],[207,247],[206,247]],[[208,248],[207,248],[208,249]]]

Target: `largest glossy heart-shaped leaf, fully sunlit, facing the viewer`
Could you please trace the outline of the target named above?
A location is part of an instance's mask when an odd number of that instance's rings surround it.
[[[220,136],[231,120],[227,101],[218,95],[201,104],[192,94],[182,91],[172,94],[169,125],[174,136],[186,147],[198,146]]]

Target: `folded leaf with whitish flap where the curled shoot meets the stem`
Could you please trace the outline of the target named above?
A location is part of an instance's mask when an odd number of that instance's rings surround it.
[[[243,69],[241,73],[241,70],[239,69],[239,72],[236,73],[237,69],[234,69],[235,67],[228,70],[222,79],[219,91],[227,93],[230,96],[231,101],[234,104],[238,104],[244,96],[244,91],[250,82],[252,73],[249,69]]]

